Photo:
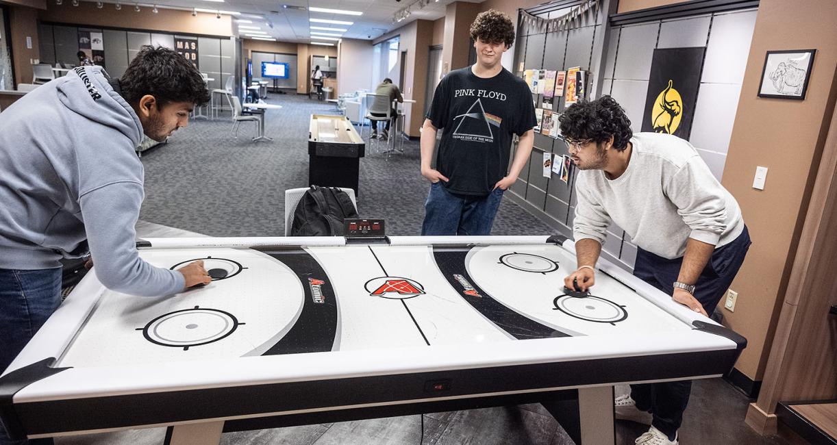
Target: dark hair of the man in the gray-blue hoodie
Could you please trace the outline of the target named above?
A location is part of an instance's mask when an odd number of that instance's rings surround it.
[[[162,46],[143,46],[119,82],[122,97],[131,106],[139,104],[144,95],[154,96],[158,108],[171,102],[200,106],[209,101],[207,84],[195,65]]]

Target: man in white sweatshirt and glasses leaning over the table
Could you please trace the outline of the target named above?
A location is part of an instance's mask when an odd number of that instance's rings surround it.
[[[610,96],[571,105],[558,120],[580,170],[573,221],[578,269],[564,279],[567,288],[595,284],[605,231],[616,223],[637,246],[634,275],[711,314],[750,237],[735,198],[695,147],[671,135],[634,135]],[[690,392],[691,381],[631,385],[630,395],[616,399],[616,417],[650,424],[636,443],[676,444]]]

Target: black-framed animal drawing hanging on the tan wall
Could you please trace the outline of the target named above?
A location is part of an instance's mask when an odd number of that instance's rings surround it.
[[[804,100],[815,52],[816,49],[768,51],[758,96]]]

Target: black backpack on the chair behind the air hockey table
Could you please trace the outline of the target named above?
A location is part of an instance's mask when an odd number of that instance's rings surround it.
[[[311,186],[296,205],[290,236],[339,237],[347,217],[358,217],[347,192],[336,187]]]

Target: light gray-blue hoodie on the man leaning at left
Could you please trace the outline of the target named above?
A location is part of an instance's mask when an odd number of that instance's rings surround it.
[[[134,226],[144,198],[139,117],[101,67],[84,66],[0,114],[0,269],[52,269],[90,251],[102,284],[180,292],[182,274],[146,263]]]

